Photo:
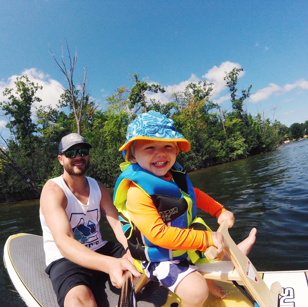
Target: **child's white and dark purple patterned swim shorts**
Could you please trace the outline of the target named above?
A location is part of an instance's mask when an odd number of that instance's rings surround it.
[[[185,276],[198,269],[197,266],[191,265],[187,259],[162,262],[142,261],[141,267],[148,278],[153,281],[160,281],[173,293]]]

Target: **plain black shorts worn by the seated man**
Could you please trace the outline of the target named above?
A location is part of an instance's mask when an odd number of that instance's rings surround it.
[[[115,258],[121,258],[126,253],[123,245],[118,242],[107,242],[95,252]],[[101,295],[104,284],[109,279],[106,273],[84,268],[66,258],[53,261],[45,272],[50,277],[60,307],[63,307],[68,291],[75,286],[87,286],[95,297]]]

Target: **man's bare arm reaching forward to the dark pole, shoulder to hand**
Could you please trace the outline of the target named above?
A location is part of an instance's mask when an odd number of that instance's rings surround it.
[[[63,190],[54,182],[48,181],[42,190],[40,210],[63,257],[83,267],[108,273],[112,284],[116,287],[121,286],[125,270],[140,276],[127,259],[100,255],[75,240],[65,212],[66,206],[67,198]]]

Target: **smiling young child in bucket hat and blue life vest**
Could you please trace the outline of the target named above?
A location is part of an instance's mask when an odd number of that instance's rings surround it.
[[[190,228],[200,208],[233,226],[233,213],[213,198],[193,188],[187,173],[176,162],[179,150],[190,143],[176,131],[173,121],[155,111],[140,114],[128,125],[126,142],[119,149],[126,162],[115,185],[114,204],[133,258],[145,274],[176,293],[183,307],[201,307],[210,291],[225,292],[205,280],[188,261],[190,250],[215,246],[223,251],[221,233]],[[255,240],[253,229],[240,249],[248,254]]]

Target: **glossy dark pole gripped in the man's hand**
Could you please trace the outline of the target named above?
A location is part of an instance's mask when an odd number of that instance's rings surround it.
[[[132,273],[125,271],[122,279],[118,307],[137,307]]]

